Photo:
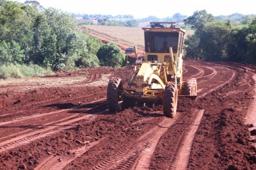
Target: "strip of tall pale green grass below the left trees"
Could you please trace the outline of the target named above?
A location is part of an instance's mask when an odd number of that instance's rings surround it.
[[[33,77],[53,73],[54,72],[52,72],[51,68],[44,68],[35,64],[0,65],[0,79]]]

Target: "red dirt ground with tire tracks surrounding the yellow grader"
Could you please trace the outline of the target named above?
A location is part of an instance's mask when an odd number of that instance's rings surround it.
[[[161,105],[106,109],[110,77],[127,82],[131,66],[0,80],[0,169],[256,169],[256,123],[246,124],[256,66],[184,63],[198,97],[179,98],[172,119]],[[188,162],[177,164],[188,139]]]

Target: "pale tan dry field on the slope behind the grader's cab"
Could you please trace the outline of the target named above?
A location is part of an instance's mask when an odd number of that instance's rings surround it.
[[[98,35],[105,36],[116,42],[125,43],[125,45],[136,45],[139,49],[144,49],[144,35],[141,27],[120,27],[120,26],[96,26],[88,25],[83,28],[92,31]],[[187,31],[186,36],[193,34],[193,31]]]

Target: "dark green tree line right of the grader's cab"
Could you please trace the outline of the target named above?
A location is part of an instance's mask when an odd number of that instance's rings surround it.
[[[241,22],[223,21],[201,10],[184,22],[195,30],[185,41],[186,58],[256,64],[255,17]]]

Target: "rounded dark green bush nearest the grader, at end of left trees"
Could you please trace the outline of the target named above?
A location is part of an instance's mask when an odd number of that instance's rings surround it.
[[[121,52],[116,43],[106,43],[100,47],[97,56],[102,66],[118,68],[122,66],[125,55]]]

